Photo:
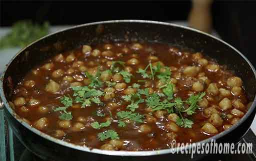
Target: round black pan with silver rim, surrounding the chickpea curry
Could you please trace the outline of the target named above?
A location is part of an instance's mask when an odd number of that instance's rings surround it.
[[[170,43],[202,51],[225,64],[244,80],[243,85],[252,101],[247,113],[231,128],[200,141],[238,142],[248,130],[256,109],[255,69],[249,60],[228,43],[204,32],[176,24],[146,20],[112,20],[82,24],[42,37],[20,50],[6,65],[0,81],[0,96],[5,116],[20,141],[33,153],[53,160],[187,160],[189,154],[181,154],[180,148],[155,151],[106,151],[89,149],[68,143],[31,127],[15,113],[9,105],[12,90],[24,74],[34,65],[80,44],[109,41],[153,41]],[[189,150],[189,146],[185,146]],[[195,155],[193,160],[202,155]]]

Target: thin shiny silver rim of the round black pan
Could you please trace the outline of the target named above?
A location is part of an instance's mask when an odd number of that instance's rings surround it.
[[[255,71],[255,68],[253,67],[253,65],[251,64],[251,62],[240,52],[238,51],[235,47],[233,47],[232,45],[230,45],[229,43],[217,38],[217,37],[214,37],[208,33],[205,33],[205,32],[202,32],[200,30],[197,30],[197,29],[194,29],[194,28],[190,28],[190,27],[187,27],[187,26],[182,26],[182,25],[179,25],[179,24],[173,24],[173,23],[167,23],[167,22],[160,22],[160,21],[151,21],[151,20],[135,20],[135,19],[125,19],[125,20],[107,20],[107,21],[98,21],[98,22],[91,22],[91,23],[85,23],[85,24],[79,24],[79,25],[75,25],[75,26],[72,26],[72,27],[68,27],[68,28],[65,28],[65,29],[61,29],[59,31],[56,31],[56,32],[53,32],[53,33],[50,33],[46,36],[43,36],[33,42],[31,42],[30,44],[28,44],[27,46],[25,46],[24,48],[22,48],[21,50],[19,50],[17,52],[17,54],[15,54],[15,56],[13,56],[10,61],[8,62],[8,65],[5,66],[4,68],[4,71],[2,72],[1,74],[1,80],[0,80],[0,96],[1,96],[1,99],[4,103],[4,107],[7,109],[7,111],[20,123],[22,124],[25,128],[29,129],[30,131],[32,131],[33,133],[49,140],[49,141],[52,141],[54,143],[57,143],[57,144],[60,144],[60,145],[63,145],[63,146],[66,146],[66,147],[70,147],[70,148],[73,148],[73,149],[76,149],[76,150],[80,150],[80,151],[86,151],[86,152],[92,152],[92,153],[97,153],[97,154],[105,154],[105,155],[116,155],[116,156],[149,156],[149,155],[160,155],[160,154],[167,154],[167,153],[173,153],[172,151],[176,151],[176,152],[180,152],[181,150],[184,150],[184,149],[189,149],[189,146],[186,145],[184,147],[175,147],[175,148],[168,148],[168,149],[159,149],[159,150],[148,150],[148,151],[109,151],[109,150],[101,150],[101,149],[97,149],[97,148],[93,148],[93,149],[90,149],[89,147],[87,146],[81,146],[81,145],[76,145],[76,144],[73,144],[73,143],[68,143],[66,141],[63,141],[63,140],[60,140],[60,139],[57,139],[57,138],[54,138],[48,134],[45,134],[41,131],[39,131],[38,129],[34,128],[34,127],[31,127],[28,123],[24,122],[22,119],[19,119],[17,118],[15,115],[15,112],[14,110],[12,110],[12,108],[9,106],[6,98],[5,98],[5,95],[4,95],[4,91],[3,91],[3,77],[5,75],[5,71],[7,70],[9,64],[13,61],[13,59],[16,58],[16,56],[18,54],[20,54],[23,50],[25,50],[27,47],[33,45],[34,43],[36,43],[37,41],[40,41],[41,39],[44,39],[45,37],[48,37],[48,36],[51,36],[53,34],[56,34],[56,33],[59,33],[59,32],[63,32],[63,31],[66,31],[66,30],[69,30],[69,29],[75,29],[75,28],[78,28],[78,27],[83,27],[83,26],[88,26],[88,25],[97,25],[97,24],[106,24],[106,23],[145,23],[145,24],[160,24],[160,25],[167,25],[167,26],[174,26],[174,27],[179,27],[179,28],[183,28],[183,29],[186,29],[186,30],[190,30],[190,31],[194,31],[194,32],[198,32],[200,34],[204,34],[206,36],[209,36],[217,41],[220,41],[221,43],[225,44],[226,46],[230,47],[232,50],[234,50],[236,53],[238,53],[250,66],[251,70],[253,71],[253,74],[254,74],[254,77],[256,78],[256,71]],[[253,99],[253,102],[251,104],[251,107],[249,108],[249,110],[245,113],[245,115],[236,123],[234,124],[233,126],[231,126],[230,128],[212,136],[212,137],[209,137],[207,139],[204,139],[204,140],[201,140],[201,141],[198,141],[198,142],[195,142],[195,143],[206,143],[206,142],[210,142],[212,139],[218,139],[220,138],[221,136],[233,131],[237,126],[239,126],[242,122],[244,122],[247,117],[252,113],[252,111],[254,110],[255,108],[255,105],[256,105],[256,95],[254,95],[254,99]]]

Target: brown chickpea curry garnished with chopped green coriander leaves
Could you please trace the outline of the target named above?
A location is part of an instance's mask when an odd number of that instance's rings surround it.
[[[160,43],[82,45],[31,69],[15,112],[58,139],[105,150],[157,150],[235,124],[242,80],[200,52]]]

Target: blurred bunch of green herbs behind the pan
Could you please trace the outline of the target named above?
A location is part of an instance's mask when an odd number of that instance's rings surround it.
[[[48,22],[39,25],[29,20],[17,21],[12,25],[11,31],[0,39],[0,48],[24,47],[48,32]]]

